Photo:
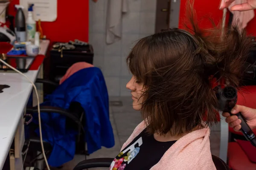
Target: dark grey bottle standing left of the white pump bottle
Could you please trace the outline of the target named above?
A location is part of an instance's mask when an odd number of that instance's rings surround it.
[[[23,6],[15,5],[17,8],[17,14],[15,16],[15,34],[17,36],[18,42],[25,42],[26,41],[26,22],[25,16],[23,13]]]

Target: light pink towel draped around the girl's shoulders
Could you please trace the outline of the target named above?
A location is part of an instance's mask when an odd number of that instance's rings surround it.
[[[141,122],[129,139],[123,144],[123,150],[144,129],[145,122]],[[195,130],[183,136],[151,167],[151,170],[216,170],[210,150],[210,129]]]

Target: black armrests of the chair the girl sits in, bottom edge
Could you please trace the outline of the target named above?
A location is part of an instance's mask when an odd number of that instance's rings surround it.
[[[96,167],[110,167],[113,160],[113,158],[87,159],[79,162],[79,164],[77,164],[73,170],[86,170]],[[212,155],[212,160],[217,170],[229,170],[227,164],[217,156]]]

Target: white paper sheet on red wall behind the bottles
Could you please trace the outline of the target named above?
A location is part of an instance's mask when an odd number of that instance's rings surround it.
[[[20,5],[24,7],[25,17],[29,4],[33,6],[33,19],[46,22],[53,22],[57,19],[57,0],[20,0]]]

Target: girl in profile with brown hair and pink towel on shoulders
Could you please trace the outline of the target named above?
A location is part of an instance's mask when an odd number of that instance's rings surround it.
[[[237,28],[224,35],[199,29],[192,5],[187,8],[192,33],[172,28],[150,35],[127,57],[133,76],[126,87],[144,121],[111,170],[216,170],[208,127],[217,122],[212,80],[238,88],[251,42]]]

